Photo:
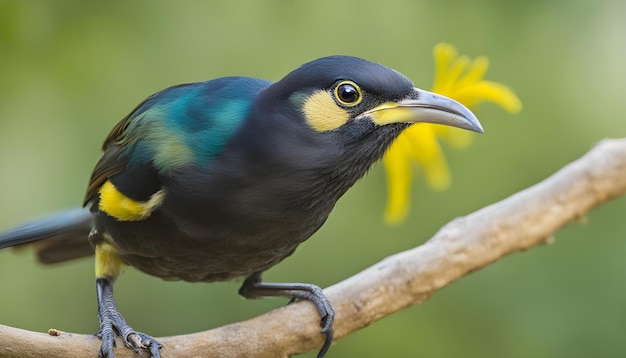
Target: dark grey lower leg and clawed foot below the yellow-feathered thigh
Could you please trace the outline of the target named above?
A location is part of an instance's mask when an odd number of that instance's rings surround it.
[[[98,319],[100,320],[98,337],[102,340],[98,357],[115,357],[113,347],[115,346],[115,336],[119,335],[124,340],[126,347],[134,349],[137,353],[148,350],[152,357],[160,358],[159,351],[163,345],[149,335],[133,330],[117,310],[113,299],[113,279],[97,278],[96,289],[98,292]]]

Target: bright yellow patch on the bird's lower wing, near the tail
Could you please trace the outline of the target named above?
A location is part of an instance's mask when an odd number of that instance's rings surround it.
[[[98,208],[120,221],[138,221],[149,217],[164,198],[165,191],[159,190],[148,201],[136,201],[122,194],[107,180],[100,188]]]

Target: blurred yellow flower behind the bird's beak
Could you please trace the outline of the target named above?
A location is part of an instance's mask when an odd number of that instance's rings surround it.
[[[458,56],[456,49],[446,43],[435,46],[435,79],[432,91],[455,99],[473,109],[481,102],[493,102],[511,113],[522,109],[522,103],[508,87],[484,80],[489,60],[480,56],[471,60]],[[412,162],[424,169],[426,181],[436,190],[450,186],[448,164],[439,139],[454,148],[468,146],[473,134],[457,128],[420,123],[406,129],[391,145],[383,164],[387,172],[387,208],[385,221],[400,223],[409,211],[412,182]]]

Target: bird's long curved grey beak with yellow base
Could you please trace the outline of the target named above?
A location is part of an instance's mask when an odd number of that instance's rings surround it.
[[[476,116],[464,105],[419,88],[413,88],[405,99],[383,103],[362,115],[370,117],[378,125],[424,122],[483,133]]]

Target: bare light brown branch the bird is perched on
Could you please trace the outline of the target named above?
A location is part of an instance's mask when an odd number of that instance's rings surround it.
[[[626,193],[626,138],[604,140],[548,179],[466,217],[423,245],[390,256],[325,290],[339,339],[410,305],[499,258],[549,242],[567,223]],[[205,332],[163,337],[165,357],[287,357],[321,346],[319,317],[301,302]],[[89,335],[49,335],[0,326],[2,357],[96,356]],[[118,341],[118,357],[135,357]]]

